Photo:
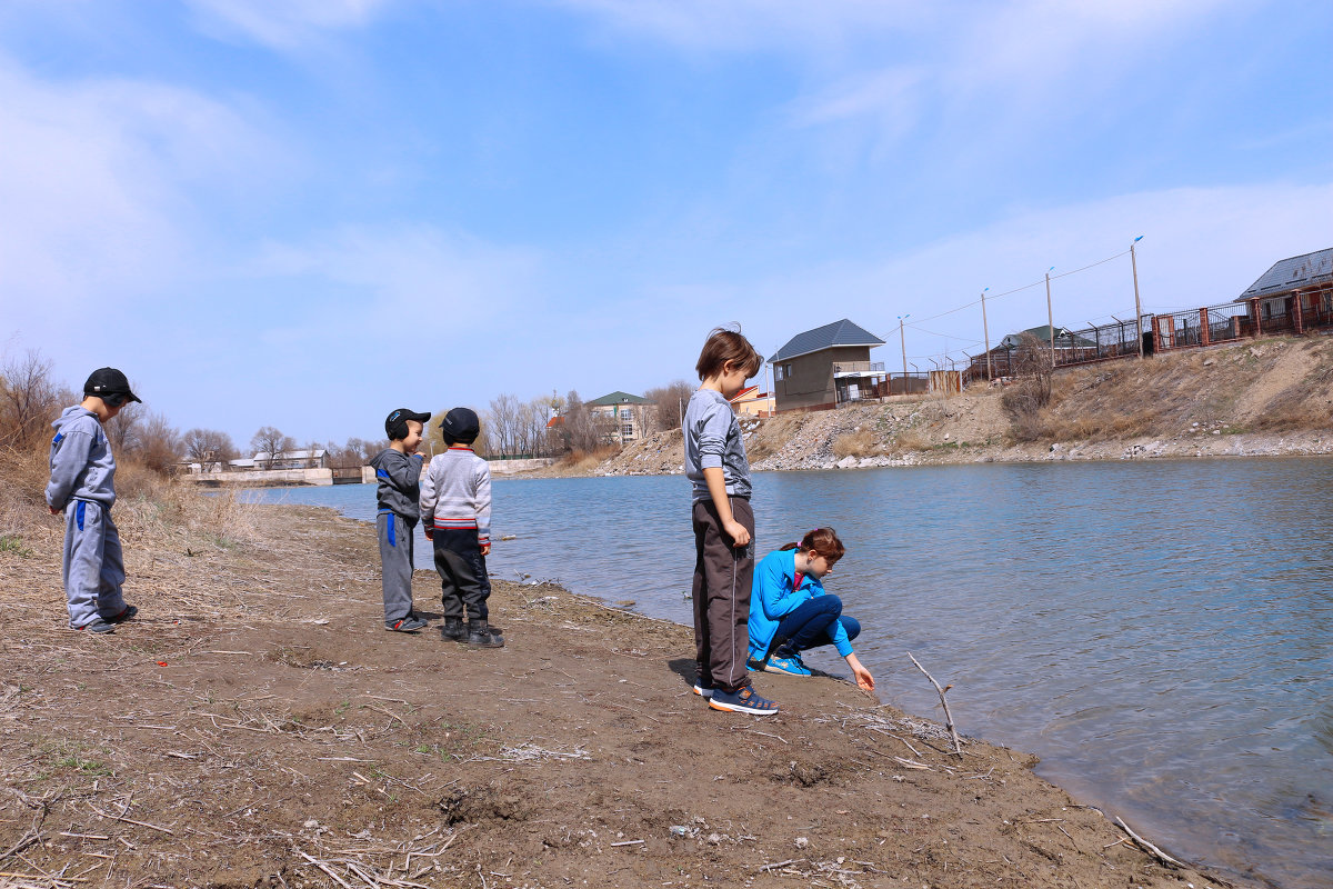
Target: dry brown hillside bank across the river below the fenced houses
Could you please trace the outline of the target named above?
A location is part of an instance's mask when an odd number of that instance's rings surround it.
[[[757,470],[1333,453],[1325,337],[1057,371],[1050,403],[1025,417],[1006,412],[1006,391],[973,387],[948,400],[902,397],[741,424]],[[670,431],[585,472],[660,474],[681,464],[681,435]]]

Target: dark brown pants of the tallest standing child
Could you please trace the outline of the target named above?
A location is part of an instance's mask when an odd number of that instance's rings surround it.
[[[724,692],[749,685],[749,597],[754,577],[754,513],[732,497],[732,516],[750,532],[734,549],[712,500],[694,504],[694,660],[698,682]]]

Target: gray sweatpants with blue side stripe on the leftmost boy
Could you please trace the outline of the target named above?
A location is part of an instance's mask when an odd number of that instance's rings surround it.
[[[79,629],[125,610],[120,586],[125,582],[125,557],[111,512],[93,500],[65,505],[65,552],[61,566],[69,626]]]

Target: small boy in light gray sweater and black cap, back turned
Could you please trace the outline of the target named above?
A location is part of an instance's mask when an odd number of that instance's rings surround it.
[[[491,578],[491,466],[469,446],[481,424],[468,408],[455,408],[440,423],[449,449],[437,453],[421,480],[421,520],[435,542],[435,568],[444,588],[445,638],[479,648],[500,648],[504,640],[487,622]],[[468,626],[464,629],[464,613]]]

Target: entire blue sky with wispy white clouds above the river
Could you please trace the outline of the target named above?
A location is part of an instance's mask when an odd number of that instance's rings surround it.
[[[1329,45],[1290,0],[9,0],[0,349],[244,445],[643,392],[733,321],[897,368],[910,313],[925,368],[1138,235],[1145,309],[1225,303],[1333,245]],[[1053,300],[1132,317],[1128,257]]]

